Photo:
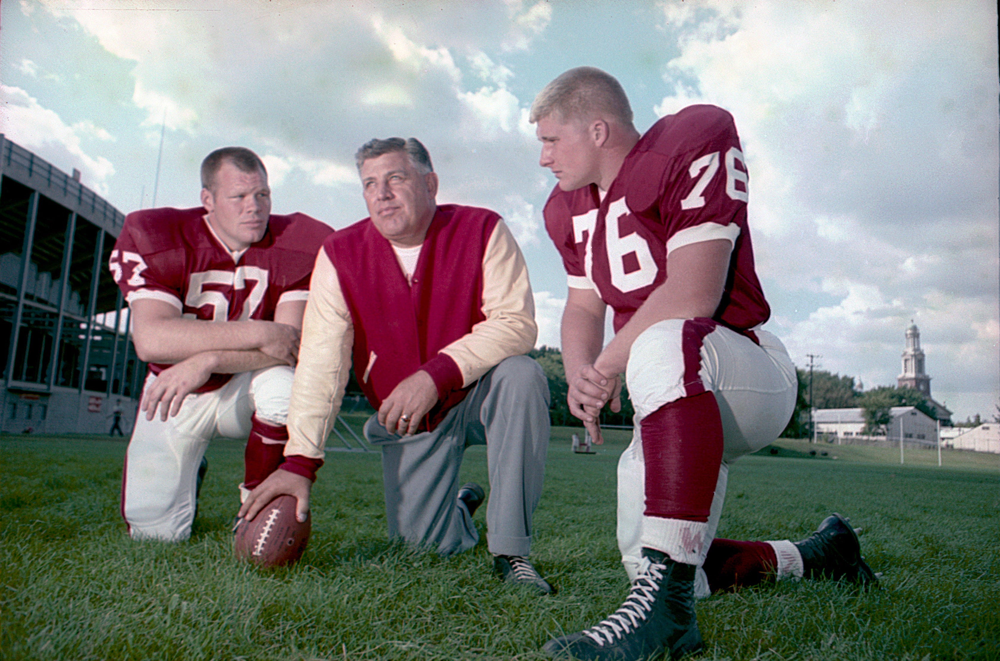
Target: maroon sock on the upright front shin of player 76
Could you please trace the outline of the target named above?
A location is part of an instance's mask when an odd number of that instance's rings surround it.
[[[722,418],[703,392],[664,404],[642,420],[646,516],[708,521],[722,463]]]

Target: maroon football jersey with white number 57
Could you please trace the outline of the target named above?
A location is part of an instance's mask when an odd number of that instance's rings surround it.
[[[316,253],[333,231],[304,214],[272,215],[264,238],[234,262],[205,209],[144,209],[125,218],[109,267],[128,303],[154,298],[185,317],[274,320],[286,301],[306,300]],[[158,374],[169,365],[151,364]],[[200,392],[228,381],[213,374]]]

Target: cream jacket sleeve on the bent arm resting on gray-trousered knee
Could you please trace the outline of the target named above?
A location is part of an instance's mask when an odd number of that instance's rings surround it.
[[[503,220],[497,221],[483,256],[482,305],[486,319],[441,350],[458,365],[463,388],[504,358],[530,351],[538,337],[528,266]]]

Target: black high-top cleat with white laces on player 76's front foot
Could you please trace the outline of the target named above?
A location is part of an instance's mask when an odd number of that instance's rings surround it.
[[[679,659],[705,646],[694,612],[694,565],[642,550],[639,575],[625,603],[602,622],[545,643],[558,659],[640,661],[667,654]]]

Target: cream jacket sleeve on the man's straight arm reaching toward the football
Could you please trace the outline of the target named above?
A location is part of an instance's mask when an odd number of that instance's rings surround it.
[[[325,250],[316,256],[309,290],[288,404],[285,455],[322,459],[344,398],[354,345],[351,313]]]

